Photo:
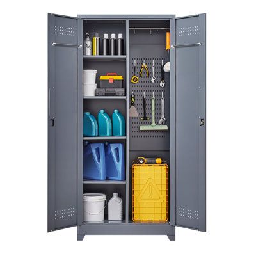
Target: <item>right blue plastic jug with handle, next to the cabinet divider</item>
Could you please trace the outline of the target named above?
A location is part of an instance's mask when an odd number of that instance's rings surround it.
[[[109,143],[105,151],[106,179],[125,180],[124,145]]]

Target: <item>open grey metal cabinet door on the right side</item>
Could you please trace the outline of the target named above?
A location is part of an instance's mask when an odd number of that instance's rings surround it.
[[[205,227],[205,14],[171,20],[173,225]]]

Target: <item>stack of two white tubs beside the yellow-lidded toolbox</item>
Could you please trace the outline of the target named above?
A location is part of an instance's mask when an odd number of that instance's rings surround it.
[[[83,70],[83,95],[95,96],[97,70],[84,69]]]

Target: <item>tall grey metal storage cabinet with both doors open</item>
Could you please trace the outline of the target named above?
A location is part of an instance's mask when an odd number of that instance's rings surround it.
[[[171,71],[161,88],[161,59],[168,61],[165,33],[170,29]],[[205,232],[205,14],[175,15],[48,15],[48,231],[77,226],[77,239],[90,234],[165,234],[175,240],[175,226]],[[83,56],[84,34],[123,33],[124,56]],[[130,83],[133,61],[154,59],[156,83],[141,78]],[[124,76],[124,97],[83,97],[83,68],[99,74]],[[137,67],[139,68],[139,67]],[[137,69],[138,71],[138,69]],[[150,70],[151,72],[151,70]],[[170,74],[170,75],[169,75]],[[97,77],[99,83],[99,77]],[[139,115],[142,95],[165,97],[168,131],[141,132],[140,120],[129,118],[130,95],[136,94]],[[126,118],[125,137],[83,138],[83,112],[111,113],[118,106]],[[125,145],[126,180],[83,180],[84,141],[117,141]],[[134,223],[131,218],[131,164],[138,156],[168,161],[169,220],[166,223]],[[83,223],[83,193],[118,191],[124,201],[124,220]]]

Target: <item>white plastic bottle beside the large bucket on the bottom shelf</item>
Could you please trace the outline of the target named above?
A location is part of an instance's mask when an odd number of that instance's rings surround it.
[[[113,193],[108,202],[108,220],[123,220],[123,200],[118,193]]]

